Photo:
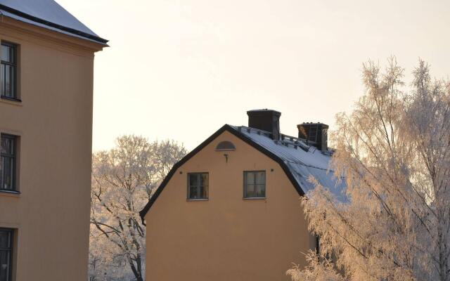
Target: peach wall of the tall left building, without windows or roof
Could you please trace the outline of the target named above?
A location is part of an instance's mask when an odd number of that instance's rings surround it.
[[[20,45],[23,100],[0,100],[0,132],[20,136],[21,194],[0,192],[0,227],[16,229],[13,280],[86,280],[100,47],[7,18],[0,39]]]

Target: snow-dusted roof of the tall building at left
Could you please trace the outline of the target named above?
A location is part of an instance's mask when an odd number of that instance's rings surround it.
[[[0,0],[0,15],[101,44],[108,42],[53,0]]]

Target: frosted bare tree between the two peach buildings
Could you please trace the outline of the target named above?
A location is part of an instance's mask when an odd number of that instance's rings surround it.
[[[174,141],[149,143],[140,136],[122,136],[112,150],[94,153],[91,281],[143,281],[146,229],[139,211],[184,155],[186,149]]]

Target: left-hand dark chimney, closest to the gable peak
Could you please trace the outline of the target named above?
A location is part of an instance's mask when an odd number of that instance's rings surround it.
[[[280,139],[280,116],[281,112],[275,110],[249,110],[248,126],[263,131],[268,131],[272,139]]]

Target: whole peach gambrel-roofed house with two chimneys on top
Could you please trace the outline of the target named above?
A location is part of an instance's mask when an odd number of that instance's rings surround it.
[[[292,263],[306,264],[301,252],[318,250],[300,197],[314,188],[309,176],[336,183],[328,126],[285,136],[280,116],[249,111],[248,126],[221,127],[174,165],[141,211],[146,280],[288,280]]]

